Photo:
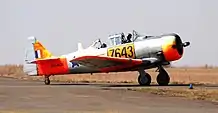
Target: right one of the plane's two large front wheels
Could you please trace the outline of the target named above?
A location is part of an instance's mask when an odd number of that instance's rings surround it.
[[[157,83],[160,86],[167,86],[170,82],[169,74],[163,67],[159,67],[159,74],[157,75]]]

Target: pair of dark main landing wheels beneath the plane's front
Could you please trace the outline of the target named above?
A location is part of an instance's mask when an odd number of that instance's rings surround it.
[[[160,86],[168,85],[170,82],[170,77],[168,73],[162,66],[158,66],[159,74],[157,75],[156,81]],[[146,73],[144,70],[139,71],[138,83],[142,86],[148,86],[151,83],[151,76]]]

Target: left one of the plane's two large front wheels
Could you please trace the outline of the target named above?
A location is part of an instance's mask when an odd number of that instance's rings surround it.
[[[144,70],[139,72],[138,83],[141,86],[149,86],[151,84],[151,76]]]

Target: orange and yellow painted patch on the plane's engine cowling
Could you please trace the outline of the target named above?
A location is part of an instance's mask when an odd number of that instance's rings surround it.
[[[162,45],[163,55],[167,61],[175,61],[182,57],[173,45],[176,45],[175,39],[166,40]]]

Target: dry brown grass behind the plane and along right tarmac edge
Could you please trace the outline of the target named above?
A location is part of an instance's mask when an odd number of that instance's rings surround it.
[[[170,84],[218,84],[218,68],[166,68],[171,77]],[[152,76],[152,84],[156,84],[155,69],[147,70]],[[22,65],[0,66],[0,75],[18,79],[43,80],[43,77],[30,77],[23,73]],[[106,83],[137,83],[138,72],[122,72],[109,74],[81,74],[52,76],[51,81],[64,82],[106,82]],[[127,90],[149,92],[158,95],[187,97],[190,99],[208,100],[218,102],[218,90],[208,88],[127,88]]]

